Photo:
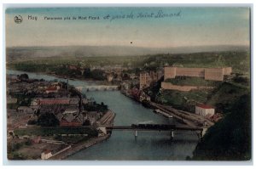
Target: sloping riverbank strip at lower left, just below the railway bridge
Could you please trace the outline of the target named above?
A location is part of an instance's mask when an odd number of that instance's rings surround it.
[[[66,151],[64,151],[58,155],[55,155],[55,156],[49,158],[48,160],[64,160],[68,156],[74,155],[74,154],[78,153],[79,151],[81,151],[83,149],[87,149],[90,146],[93,146],[95,144],[100,144],[104,140],[107,140],[108,138],[110,138],[110,134],[107,134],[105,136],[101,136],[98,138],[90,138],[88,140],[79,142],[78,144],[71,145],[70,149],[67,149]]]

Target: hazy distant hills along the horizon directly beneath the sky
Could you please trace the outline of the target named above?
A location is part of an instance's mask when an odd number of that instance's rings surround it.
[[[245,51],[248,46],[191,46],[177,48],[140,48],[130,46],[54,46],[6,48],[7,59],[39,57],[136,56],[147,54],[188,54],[201,52]]]

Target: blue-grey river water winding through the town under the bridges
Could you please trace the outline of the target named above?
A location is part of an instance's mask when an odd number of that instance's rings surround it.
[[[7,74],[19,75],[22,71],[7,70]],[[26,73],[29,78],[51,81],[67,82],[66,79],[36,73]],[[94,82],[69,80],[69,84],[79,86],[94,85]],[[154,114],[153,110],[143,107],[142,104],[125,97],[119,91],[91,91],[85,93],[87,98],[94,98],[97,103],[108,104],[108,109],[116,113],[114,125],[130,126],[139,123],[175,124],[174,119]],[[171,140],[170,132],[134,132],[113,131],[111,137],[88,149],[79,151],[69,156],[67,160],[150,160],[150,161],[183,161],[187,156],[192,156],[198,143],[198,138],[193,132],[175,132]]]

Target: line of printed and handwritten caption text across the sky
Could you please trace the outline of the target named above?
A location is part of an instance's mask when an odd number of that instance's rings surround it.
[[[129,14],[105,14],[103,16],[44,16],[44,20],[136,20],[136,19],[163,19],[163,18],[174,18],[181,17],[182,11],[179,10],[174,13],[166,13],[162,10],[156,12],[137,12],[137,13],[129,13]],[[29,19],[32,20],[31,17]]]

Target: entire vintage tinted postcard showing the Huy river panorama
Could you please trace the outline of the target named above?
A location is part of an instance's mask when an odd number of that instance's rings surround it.
[[[251,161],[250,14],[6,8],[8,160]]]

